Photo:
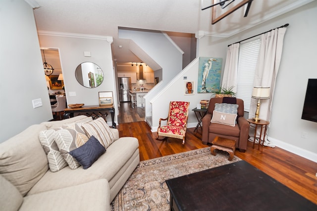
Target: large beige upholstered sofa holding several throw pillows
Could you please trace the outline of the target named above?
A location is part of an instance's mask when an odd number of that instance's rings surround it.
[[[0,144],[0,207],[3,211],[110,210],[110,203],[138,165],[136,138],[119,138],[92,166],[49,169],[39,132],[80,121],[76,116],[32,125]]]

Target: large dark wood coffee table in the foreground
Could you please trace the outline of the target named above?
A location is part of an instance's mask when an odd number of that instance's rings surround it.
[[[166,180],[172,211],[317,211],[317,205],[246,161]]]

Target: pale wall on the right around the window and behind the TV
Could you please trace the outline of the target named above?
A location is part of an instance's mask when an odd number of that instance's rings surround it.
[[[223,44],[214,45],[214,38],[199,45],[199,53],[209,51],[222,52],[227,45],[282,26],[287,27],[284,37],[283,54],[276,79],[276,87],[272,104],[271,121],[268,139],[278,147],[291,151],[302,157],[317,161],[317,123],[302,120],[307,82],[309,78],[317,78],[317,1],[306,4],[257,27],[239,33],[227,39]],[[208,43],[211,43],[209,45]],[[212,47],[212,48],[211,48]],[[220,56],[221,57],[221,56]],[[225,63],[225,59],[223,61]],[[308,138],[302,138],[307,132]]]

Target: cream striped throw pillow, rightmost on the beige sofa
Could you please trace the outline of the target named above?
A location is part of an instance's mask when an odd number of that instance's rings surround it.
[[[114,142],[114,134],[103,117],[84,123],[81,126],[89,137],[95,136],[105,149]]]

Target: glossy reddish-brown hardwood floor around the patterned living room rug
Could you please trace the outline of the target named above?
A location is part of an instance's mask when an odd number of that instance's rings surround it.
[[[126,115],[129,116],[131,114]],[[133,119],[134,117],[129,118]],[[201,128],[195,132],[195,128],[187,129],[185,145],[182,145],[180,139],[156,140],[157,132],[152,133],[144,119],[137,122],[119,123],[117,128],[120,137],[132,136],[138,138],[140,160],[159,158],[210,146],[202,144]],[[260,147],[260,150],[255,147],[255,149],[252,149],[252,144],[251,142],[248,143],[248,149],[245,153],[240,153],[238,150],[235,151],[235,156],[246,160],[280,183],[317,204],[316,162],[294,155],[278,147]]]

